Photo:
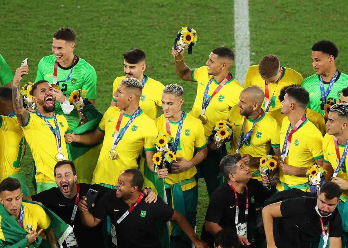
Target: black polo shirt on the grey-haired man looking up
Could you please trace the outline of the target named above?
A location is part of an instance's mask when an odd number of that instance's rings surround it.
[[[243,194],[237,192],[239,215],[238,223],[247,221],[247,238],[250,238],[251,226],[249,225],[250,220],[255,217],[256,202],[261,204],[264,203],[269,198],[269,193],[256,179],[250,179],[246,184],[248,187],[249,194],[249,210],[247,220],[245,218],[245,200],[246,200],[246,190],[244,188]],[[207,213],[205,215],[205,220],[208,222],[213,222],[219,224],[222,228],[232,227],[236,230],[235,225],[236,219],[236,200],[235,192],[231,189],[230,185],[225,182],[220,185],[211,195],[209,200],[209,205]],[[214,236],[205,230],[205,223],[202,228],[201,240],[207,242],[209,245],[214,247]]]

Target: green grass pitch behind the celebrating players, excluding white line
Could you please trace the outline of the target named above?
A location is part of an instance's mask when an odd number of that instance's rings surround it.
[[[275,54],[283,66],[300,72],[303,78],[313,74],[311,46],[329,39],[338,49],[337,67],[348,72],[346,1],[312,2],[307,0],[250,0],[250,50],[252,64],[266,54]],[[165,85],[184,87],[183,109],[189,111],[196,85],[183,82],[175,74],[170,53],[177,30],[192,26],[198,32],[193,55],[185,62],[196,68],[205,65],[216,47],[234,50],[233,1],[30,1],[0,2],[0,53],[14,73],[21,61],[29,58],[30,72],[23,79],[33,81],[37,65],[52,54],[53,33],[70,26],[77,34],[75,54],[94,66],[97,72],[96,107],[110,105],[113,80],[123,75],[122,52],[141,48],[147,54],[145,74]],[[234,66],[231,73],[234,73]],[[32,156],[27,146],[22,168],[31,185]],[[31,189],[33,189],[31,187]],[[197,233],[200,235],[208,204],[204,181],[199,182]]]

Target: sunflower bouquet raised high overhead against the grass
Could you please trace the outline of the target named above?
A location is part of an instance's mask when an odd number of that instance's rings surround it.
[[[188,49],[189,54],[192,54],[192,46],[196,44],[197,39],[196,30],[192,27],[181,27],[174,41],[174,49],[178,52]]]

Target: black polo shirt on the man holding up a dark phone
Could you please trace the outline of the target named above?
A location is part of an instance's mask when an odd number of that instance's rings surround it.
[[[146,203],[145,198],[144,195],[139,204],[120,224],[116,222],[126,213],[129,206],[116,197],[116,190],[106,193],[92,211],[93,216],[98,219],[104,219],[106,215],[110,216],[111,223],[115,225],[118,248],[161,247],[155,222],[157,219],[169,221],[174,214],[174,209],[160,197],[157,197],[156,203]]]

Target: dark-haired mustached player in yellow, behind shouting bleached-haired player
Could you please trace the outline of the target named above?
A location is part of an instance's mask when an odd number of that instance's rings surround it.
[[[110,106],[116,106],[117,101],[113,93],[117,90],[122,79],[136,78],[141,82],[143,91],[141,93],[139,106],[151,119],[155,120],[159,109],[162,111],[162,91],[164,85],[159,81],[149,78],[144,75],[146,69],[145,53],[139,48],[134,48],[126,53],[123,53],[123,70],[125,76],[117,77],[112,85],[112,101]],[[162,111],[163,112],[163,111]]]

